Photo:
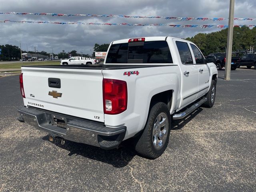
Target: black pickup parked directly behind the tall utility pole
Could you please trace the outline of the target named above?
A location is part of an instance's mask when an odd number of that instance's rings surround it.
[[[209,62],[213,62],[218,70],[221,70],[226,65],[226,53],[211,53],[206,59]],[[238,68],[240,57],[232,56],[231,58],[231,70]]]

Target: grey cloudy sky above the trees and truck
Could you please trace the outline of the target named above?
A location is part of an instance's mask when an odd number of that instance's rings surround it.
[[[228,17],[229,0],[0,0],[0,12],[30,12],[57,14],[112,14],[128,16],[166,16],[166,17]],[[256,18],[256,0],[235,0],[236,18]],[[38,16],[0,14],[0,20],[50,21],[50,22],[92,22],[92,23],[130,23],[130,24],[207,24],[227,25],[228,20],[179,21],[153,19],[134,19],[119,17],[83,16]],[[256,25],[254,21],[235,21],[234,24]],[[17,45],[21,40],[22,50],[54,53],[77,50],[90,54],[94,44],[110,43],[113,40],[139,36],[192,37],[197,33],[210,33],[220,29],[172,28],[170,26],[92,26],[57,24],[19,24],[0,23],[0,44]]]

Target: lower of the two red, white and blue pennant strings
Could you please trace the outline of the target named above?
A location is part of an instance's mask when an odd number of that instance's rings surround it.
[[[47,24],[82,24],[82,25],[126,25],[126,26],[170,26],[176,28],[228,28],[228,25],[173,25],[173,24],[129,24],[129,23],[84,23],[84,22],[50,22],[50,21],[14,21],[14,20],[3,20],[0,23],[47,23]],[[255,27],[256,25],[234,25],[234,27]]]

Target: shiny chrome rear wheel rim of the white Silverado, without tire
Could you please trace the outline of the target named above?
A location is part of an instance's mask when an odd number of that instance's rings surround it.
[[[161,148],[167,139],[169,122],[165,113],[160,113],[155,120],[153,127],[153,144],[156,149]]]

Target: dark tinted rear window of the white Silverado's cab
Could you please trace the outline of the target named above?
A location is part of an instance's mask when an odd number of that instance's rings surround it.
[[[172,63],[172,56],[166,41],[112,44],[106,63]]]

